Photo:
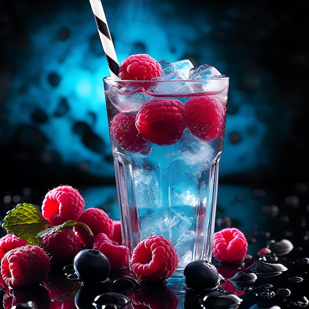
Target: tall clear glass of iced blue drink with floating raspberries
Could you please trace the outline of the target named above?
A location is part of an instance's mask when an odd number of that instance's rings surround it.
[[[211,261],[229,77],[106,77],[104,87],[129,254],[141,240],[162,235],[176,249],[178,270]]]

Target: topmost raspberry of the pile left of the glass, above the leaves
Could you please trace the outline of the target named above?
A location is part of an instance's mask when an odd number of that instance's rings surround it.
[[[60,225],[68,220],[76,221],[81,215],[85,201],[71,186],[59,186],[45,195],[42,215],[52,225]]]

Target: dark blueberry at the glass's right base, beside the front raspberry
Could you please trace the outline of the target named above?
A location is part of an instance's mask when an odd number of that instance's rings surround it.
[[[210,262],[198,260],[186,266],[184,280],[188,289],[216,289],[219,283],[219,273]]]

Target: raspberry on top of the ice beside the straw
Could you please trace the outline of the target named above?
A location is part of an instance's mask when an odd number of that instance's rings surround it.
[[[118,77],[129,80],[150,80],[161,76],[160,64],[147,54],[131,55],[125,58],[119,66]]]

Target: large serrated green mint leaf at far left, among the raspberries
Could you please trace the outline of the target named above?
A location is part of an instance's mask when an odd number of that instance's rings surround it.
[[[38,232],[50,227],[50,223],[42,216],[33,204],[23,203],[8,211],[2,220],[2,228],[19,238],[26,239],[30,244],[40,244]]]

